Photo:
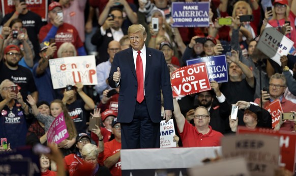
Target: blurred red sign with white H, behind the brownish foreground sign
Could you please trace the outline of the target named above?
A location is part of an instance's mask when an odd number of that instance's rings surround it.
[[[280,138],[280,166],[294,173],[295,170],[295,146],[296,146],[296,133],[288,131],[274,131],[272,129],[249,129],[239,126],[236,134],[266,134],[271,136],[278,136]]]

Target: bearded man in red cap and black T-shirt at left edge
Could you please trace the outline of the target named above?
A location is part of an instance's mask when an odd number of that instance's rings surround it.
[[[19,47],[16,45],[6,46],[3,57],[4,60],[0,62],[0,82],[9,79],[18,86],[22,97],[27,97],[29,92],[35,99],[38,99],[32,72],[18,65],[21,58]]]

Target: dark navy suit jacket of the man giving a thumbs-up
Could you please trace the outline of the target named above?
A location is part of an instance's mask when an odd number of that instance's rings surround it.
[[[138,87],[131,47],[115,54],[108,78],[111,87],[116,87],[116,83],[113,81],[113,73],[117,71],[117,67],[120,67],[121,71],[117,121],[129,123],[133,120]],[[149,47],[146,47],[144,89],[150,118],[155,123],[160,122],[162,120],[161,90],[163,92],[164,109],[173,110],[172,89],[163,53]]]

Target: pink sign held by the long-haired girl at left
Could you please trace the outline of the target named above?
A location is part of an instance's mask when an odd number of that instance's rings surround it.
[[[62,142],[69,137],[67,126],[65,122],[64,113],[55,117],[47,132],[47,142],[54,142],[56,144]]]

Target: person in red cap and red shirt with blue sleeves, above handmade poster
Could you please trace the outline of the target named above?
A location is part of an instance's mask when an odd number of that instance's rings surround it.
[[[40,43],[53,38],[58,49],[64,42],[70,42],[75,46],[79,56],[86,55],[83,42],[76,28],[63,21],[63,9],[60,3],[50,3],[48,6],[48,20],[48,24],[40,29]],[[54,58],[56,58],[56,52]]]

